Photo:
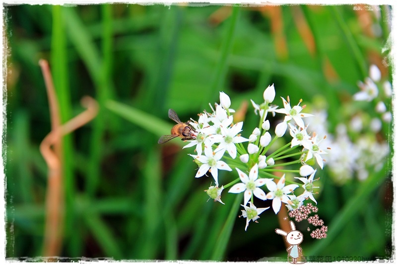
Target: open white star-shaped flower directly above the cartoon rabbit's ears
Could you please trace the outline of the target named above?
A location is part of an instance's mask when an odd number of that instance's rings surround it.
[[[289,184],[285,185],[285,174],[278,180],[277,184],[274,183],[273,180],[269,180],[266,182],[266,187],[270,191],[267,193],[266,198],[267,199],[273,199],[273,202],[271,203],[271,206],[273,208],[273,211],[275,214],[278,213],[278,211],[281,208],[281,202],[287,203],[289,198],[287,194],[291,193],[299,187],[297,184]]]

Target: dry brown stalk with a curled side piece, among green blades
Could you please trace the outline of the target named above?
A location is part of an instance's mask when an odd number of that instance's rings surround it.
[[[64,189],[62,165],[62,137],[92,120],[98,113],[97,102],[85,96],[81,104],[87,109],[61,125],[59,104],[48,62],[40,60],[45,80],[51,114],[51,132],[40,144],[40,152],[49,168],[46,194],[46,221],[44,232],[44,256],[59,256],[64,233]],[[51,148],[53,146],[53,149]]]

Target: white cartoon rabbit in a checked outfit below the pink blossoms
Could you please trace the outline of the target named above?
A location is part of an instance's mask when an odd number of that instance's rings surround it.
[[[298,258],[301,256],[301,261],[303,262],[299,262],[299,264],[305,263],[304,258],[302,257],[302,248],[299,247],[299,244],[301,244],[303,241],[303,235],[301,232],[295,229],[294,222],[289,221],[289,225],[291,227],[290,232],[287,233],[278,228],[275,230],[275,232],[279,235],[285,236],[287,243],[291,245],[287,249],[287,252],[288,256],[292,258],[292,262],[289,259],[288,262],[292,264],[298,264]]]

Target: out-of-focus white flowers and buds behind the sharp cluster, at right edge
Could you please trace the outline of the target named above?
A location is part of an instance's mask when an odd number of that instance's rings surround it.
[[[370,67],[369,76],[365,79],[365,83],[358,82],[361,91],[353,95],[353,100],[373,101],[375,106],[373,114],[379,113],[381,117],[371,117],[370,112],[361,110],[351,112],[354,101],[346,101],[340,109],[342,113],[348,115],[339,119],[334,135],[328,132],[325,110],[315,112],[316,115],[308,120],[309,130],[328,135],[324,141],[324,144],[332,149],[332,153],[327,158],[328,170],[338,184],[343,184],[354,176],[360,180],[367,179],[370,172],[378,172],[382,169],[390,153],[389,144],[381,140],[380,131],[382,120],[389,126],[392,119],[392,114],[387,111],[384,103],[392,96],[391,84],[389,81],[381,83],[381,72],[374,65]],[[382,84],[383,92],[378,89],[377,84]]]

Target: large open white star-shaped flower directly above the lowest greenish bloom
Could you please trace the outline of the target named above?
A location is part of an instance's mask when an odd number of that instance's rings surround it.
[[[250,170],[250,177],[247,176],[244,172],[236,168],[239,177],[242,183],[234,184],[230,189],[230,193],[240,193],[244,191],[244,205],[251,199],[252,194],[254,193],[255,197],[265,200],[266,194],[265,191],[260,189],[259,187],[263,186],[268,178],[259,178],[258,179],[258,164],[255,164],[254,167]]]

